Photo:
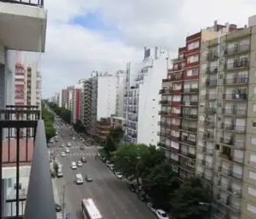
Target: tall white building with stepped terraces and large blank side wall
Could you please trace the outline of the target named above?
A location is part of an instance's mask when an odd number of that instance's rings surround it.
[[[143,61],[128,65],[129,86],[124,99],[126,142],[156,146],[159,142],[159,89],[167,74],[166,58],[167,53],[157,47],[153,55],[145,48]]]

